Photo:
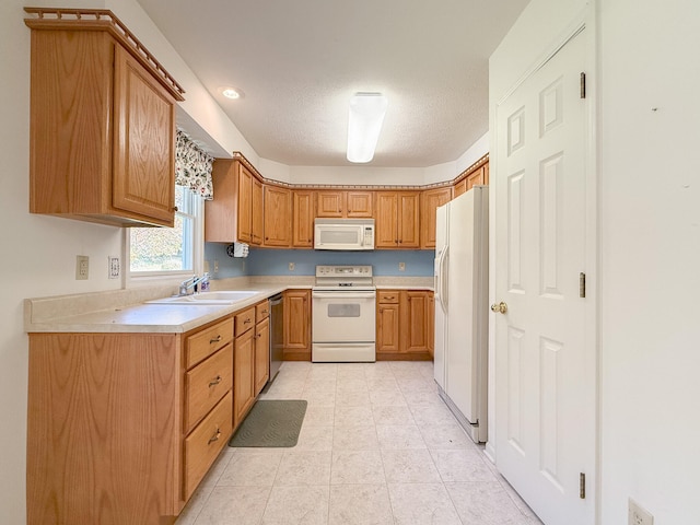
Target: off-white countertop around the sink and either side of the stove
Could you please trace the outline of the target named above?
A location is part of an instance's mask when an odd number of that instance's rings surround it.
[[[432,278],[375,278],[377,289],[431,290]],[[276,293],[311,288],[313,277],[234,278],[212,280],[211,290],[255,290],[255,295],[229,305],[145,303],[172,294],[172,287],[114,290],[24,301],[26,332],[160,332],[189,331]],[[203,292],[207,293],[207,292]]]

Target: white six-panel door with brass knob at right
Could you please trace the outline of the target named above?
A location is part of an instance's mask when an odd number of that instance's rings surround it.
[[[497,465],[547,525],[594,523],[593,305],[579,291],[592,223],[585,57],[582,30],[497,108]]]

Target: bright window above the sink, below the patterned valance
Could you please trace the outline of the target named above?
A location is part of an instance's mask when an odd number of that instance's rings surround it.
[[[174,228],[129,230],[129,271],[132,277],[195,273],[201,245],[203,199],[175,186]]]

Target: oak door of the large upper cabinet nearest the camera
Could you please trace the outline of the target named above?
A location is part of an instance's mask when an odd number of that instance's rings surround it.
[[[114,110],[113,205],[172,226],[175,101],[120,46],[115,46]]]

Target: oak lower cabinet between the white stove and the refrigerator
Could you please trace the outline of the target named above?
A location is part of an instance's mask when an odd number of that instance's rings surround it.
[[[376,357],[385,360],[430,360],[430,294],[427,290],[377,292]]]

